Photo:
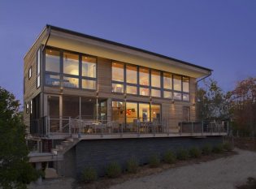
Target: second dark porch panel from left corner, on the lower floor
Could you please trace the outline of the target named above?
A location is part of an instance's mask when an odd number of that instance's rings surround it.
[[[79,97],[63,96],[63,118],[79,118]]]

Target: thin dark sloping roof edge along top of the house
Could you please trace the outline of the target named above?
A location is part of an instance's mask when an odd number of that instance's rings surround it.
[[[53,26],[53,25],[50,25],[50,24],[46,24],[46,28],[48,28],[48,29],[50,28],[50,29],[53,29],[53,30],[56,30],[56,31],[59,31],[59,32],[66,32],[66,33],[69,33],[69,34],[72,34],[72,35],[75,35],[75,36],[79,36],[79,37],[89,38],[89,39],[92,39],[92,40],[95,40],[95,41],[102,41],[102,42],[105,42],[107,44],[117,45],[117,46],[124,47],[124,48],[127,48],[127,49],[136,50],[136,51],[139,51],[139,52],[142,52],[142,53],[145,53],[145,54],[151,54],[151,55],[157,56],[159,58],[166,58],[166,59],[171,60],[171,61],[180,62],[182,64],[189,65],[189,66],[192,66],[192,67],[197,67],[197,68],[200,68],[200,69],[203,69],[203,70],[206,70],[206,71],[213,71],[210,68],[197,66],[196,64],[185,62],[185,61],[182,61],[182,60],[179,60],[179,59],[176,59],[176,58],[171,58],[171,57],[165,56],[163,54],[157,54],[157,53],[151,52],[149,50],[140,49],[140,48],[133,47],[133,46],[130,46],[130,45],[124,45],[122,43],[118,43],[118,42],[115,42],[115,41],[109,41],[109,40],[106,40],[106,39],[102,39],[100,37],[93,37],[93,36],[90,36],[90,35],[87,35],[87,34],[84,34],[84,33],[81,33],[81,32],[74,32],[72,30],[68,30],[68,29],[65,29],[65,28],[59,28],[59,27],[56,27],[56,26]]]

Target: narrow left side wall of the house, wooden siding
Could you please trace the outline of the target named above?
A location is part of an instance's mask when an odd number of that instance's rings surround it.
[[[40,48],[46,36],[47,32],[42,32],[41,36],[24,57],[24,124],[27,127],[30,124],[30,113],[26,113],[26,104],[41,92],[41,87],[37,88],[37,50]],[[28,70],[30,67],[32,67],[32,77],[28,79]]]

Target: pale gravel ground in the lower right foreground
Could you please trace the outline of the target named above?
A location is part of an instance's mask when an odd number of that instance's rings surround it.
[[[238,155],[197,165],[188,165],[160,174],[132,179],[111,189],[234,189],[248,177],[256,177],[256,152],[236,149]]]

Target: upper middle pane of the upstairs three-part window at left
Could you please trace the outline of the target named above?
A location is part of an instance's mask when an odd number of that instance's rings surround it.
[[[79,75],[79,56],[77,54],[63,54],[63,73]]]

